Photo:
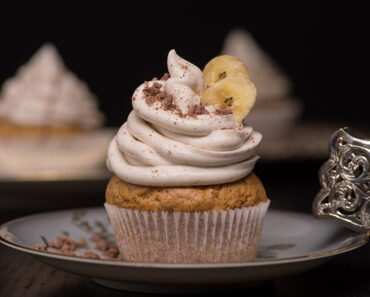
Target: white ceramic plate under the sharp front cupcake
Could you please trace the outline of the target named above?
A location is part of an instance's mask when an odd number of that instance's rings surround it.
[[[258,256],[249,263],[145,264],[56,255],[32,245],[69,234],[73,240],[100,233],[114,240],[104,208],[49,212],[23,217],[0,227],[0,241],[34,255],[56,268],[88,276],[97,283],[141,292],[201,292],[255,285],[312,269],[330,257],[353,250],[368,240],[329,221],[310,215],[269,210]],[[92,243],[88,242],[92,247]]]

